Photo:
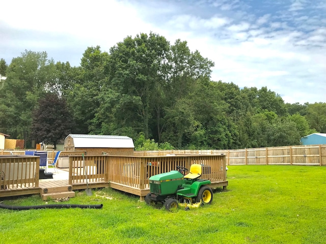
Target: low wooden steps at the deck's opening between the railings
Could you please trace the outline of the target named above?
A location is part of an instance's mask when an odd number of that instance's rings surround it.
[[[43,200],[75,196],[75,192],[72,191],[72,186],[68,184],[68,180],[40,181],[39,186]]]

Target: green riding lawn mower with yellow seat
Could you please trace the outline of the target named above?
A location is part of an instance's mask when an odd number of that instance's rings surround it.
[[[162,203],[170,211],[178,206],[188,210],[212,202],[213,192],[208,187],[210,180],[199,179],[202,175],[201,164],[193,164],[188,174],[187,168],[176,168],[149,178],[150,193],[145,197],[148,205]]]

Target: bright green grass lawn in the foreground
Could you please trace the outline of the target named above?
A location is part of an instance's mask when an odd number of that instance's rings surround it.
[[[167,212],[112,189],[71,204],[102,209],[0,209],[1,243],[326,243],[326,167],[229,166],[211,205]],[[4,200],[44,204],[39,196]],[[49,201],[48,203],[52,203]]]

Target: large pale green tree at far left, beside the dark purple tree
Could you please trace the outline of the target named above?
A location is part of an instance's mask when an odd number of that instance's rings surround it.
[[[53,79],[51,64],[46,52],[25,50],[13,58],[0,90],[0,127],[12,138],[24,139],[27,146],[31,145],[32,111],[45,94],[46,82]]]

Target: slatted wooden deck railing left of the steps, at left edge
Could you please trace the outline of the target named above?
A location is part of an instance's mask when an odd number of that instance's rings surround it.
[[[19,195],[14,190],[25,194],[39,192],[40,157],[36,156],[0,156],[0,197]]]

